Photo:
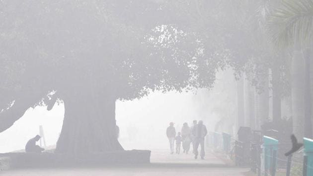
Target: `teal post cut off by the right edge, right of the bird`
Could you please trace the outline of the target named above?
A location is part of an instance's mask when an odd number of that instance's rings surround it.
[[[303,176],[313,176],[313,140],[303,138],[304,142],[304,162]]]

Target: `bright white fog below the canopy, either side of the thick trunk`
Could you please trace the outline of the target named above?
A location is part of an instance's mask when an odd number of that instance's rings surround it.
[[[131,101],[116,101],[116,123],[120,128],[119,141],[126,150],[167,149],[166,127],[175,123],[176,132],[182,124],[192,125],[203,120],[208,131],[228,130],[234,133],[236,119],[236,83],[233,71],[217,74],[214,88],[197,91],[160,91]],[[29,108],[14,125],[0,133],[0,153],[24,149],[26,142],[39,134],[43,126],[46,146],[55,147],[64,119],[64,104],[56,103],[51,111],[46,106]]]

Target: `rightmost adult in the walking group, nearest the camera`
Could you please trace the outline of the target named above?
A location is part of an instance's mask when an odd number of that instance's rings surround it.
[[[199,123],[193,128],[192,131],[193,135],[195,136],[195,148],[194,148],[194,154],[195,154],[195,159],[198,158],[198,147],[199,145],[201,146],[201,152],[200,156],[201,159],[204,159],[205,152],[204,152],[204,137],[208,134],[207,127],[203,125],[203,121],[200,120]]]

